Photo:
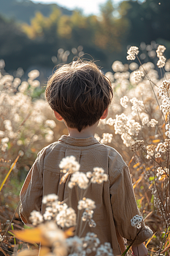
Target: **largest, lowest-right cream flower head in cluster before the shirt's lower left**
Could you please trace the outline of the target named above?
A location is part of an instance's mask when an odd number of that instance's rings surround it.
[[[71,207],[61,210],[56,216],[57,225],[62,228],[76,225],[76,213]]]

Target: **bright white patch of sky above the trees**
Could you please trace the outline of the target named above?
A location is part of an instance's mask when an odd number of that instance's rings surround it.
[[[107,0],[31,0],[35,3],[57,3],[57,5],[65,7],[69,10],[76,8],[82,9],[84,15],[100,13],[99,5],[105,3]],[[121,0],[114,0],[114,3],[118,3]]]

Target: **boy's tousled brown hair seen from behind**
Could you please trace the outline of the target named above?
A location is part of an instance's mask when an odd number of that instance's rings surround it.
[[[50,107],[70,128],[94,125],[111,104],[111,82],[96,64],[78,59],[65,64],[50,77],[45,91]]]

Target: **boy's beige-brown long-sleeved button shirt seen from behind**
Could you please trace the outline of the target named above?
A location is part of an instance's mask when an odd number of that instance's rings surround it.
[[[80,189],[68,188],[70,175],[65,184],[59,184],[63,176],[59,163],[62,158],[70,155],[74,155],[80,163],[80,171],[86,173],[94,167],[101,167],[109,175],[108,181],[103,184],[93,183],[88,189],[86,197],[96,204],[93,216],[96,228],[87,225],[83,236],[87,232],[94,232],[101,243],[111,243],[114,255],[121,254],[125,249],[122,237],[130,243],[139,232],[139,229],[131,226],[130,220],[141,213],[135,201],[128,166],[114,148],[100,144],[94,137],[77,139],[63,135],[58,142],[39,152],[20,192],[20,217],[24,223],[31,223],[29,216],[32,210],[41,210],[43,214],[45,205],[42,204],[42,197],[51,193],[56,193],[59,201],[67,199],[71,193],[69,206],[77,213],[77,195],[80,197]],[[79,225],[80,221],[78,227]],[[152,231],[143,223],[134,245],[151,236]]]

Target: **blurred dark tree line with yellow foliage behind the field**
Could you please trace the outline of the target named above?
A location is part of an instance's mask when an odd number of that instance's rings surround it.
[[[66,14],[54,5],[48,16],[37,11],[30,24],[1,16],[0,59],[6,61],[6,70],[37,65],[51,69],[58,64],[58,49],[63,56],[63,48],[66,61],[78,53],[88,53],[92,57],[84,57],[100,60],[97,64],[108,71],[114,60],[126,62],[130,45],[139,47],[141,42],[151,44],[155,40],[167,47],[168,54],[169,10],[170,1],[165,0],[128,0],[117,7],[108,0],[101,6],[100,16],[84,16],[78,10]],[[83,46],[79,52],[78,46]]]

